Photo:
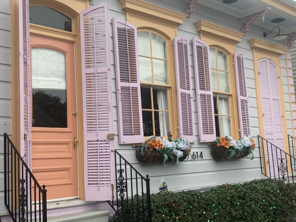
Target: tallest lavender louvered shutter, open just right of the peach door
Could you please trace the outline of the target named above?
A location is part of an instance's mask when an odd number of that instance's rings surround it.
[[[107,3],[80,14],[86,200],[111,200],[115,181]]]

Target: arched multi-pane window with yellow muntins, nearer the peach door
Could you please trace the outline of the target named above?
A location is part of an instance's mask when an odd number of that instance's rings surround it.
[[[170,130],[167,42],[150,32],[138,32],[139,70],[144,136],[167,136]]]

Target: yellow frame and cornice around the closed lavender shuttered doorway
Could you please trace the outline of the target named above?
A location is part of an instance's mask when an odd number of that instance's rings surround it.
[[[250,44],[251,45],[251,44]],[[273,45],[273,44],[272,44]],[[284,47],[283,47],[284,48]],[[263,125],[263,117],[262,117],[262,104],[261,104],[261,94],[260,94],[260,82],[259,82],[259,72],[258,72],[258,60],[262,58],[267,58],[273,61],[276,64],[277,67],[277,73],[280,76],[278,79],[279,83],[279,98],[280,98],[280,104],[281,104],[281,114],[284,115],[282,117],[282,127],[283,127],[283,135],[284,135],[284,147],[285,151],[289,151],[288,145],[288,137],[285,135],[288,135],[287,133],[287,120],[286,120],[286,113],[285,113],[285,102],[284,102],[284,92],[283,92],[283,82],[282,82],[282,75],[281,75],[281,61],[280,61],[280,55],[277,52],[274,52],[272,54],[271,52],[266,52],[265,48],[257,48],[252,47],[253,51],[253,63],[254,63],[254,74],[255,74],[255,88],[256,88],[256,98],[257,98],[257,107],[258,107],[258,120],[259,120],[259,132],[260,136],[264,137],[264,125]],[[285,53],[285,52],[284,52]],[[263,147],[261,147],[263,149]],[[265,152],[266,154],[266,152]],[[264,168],[267,168],[267,158],[265,157],[265,164]],[[289,161],[289,160],[287,160]],[[290,170],[290,169],[288,169]]]

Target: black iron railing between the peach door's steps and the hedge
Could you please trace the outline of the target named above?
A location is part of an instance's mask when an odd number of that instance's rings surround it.
[[[116,196],[108,203],[125,222],[151,222],[150,179],[115,150]],[[146,193],[145,193],[146,192]]]

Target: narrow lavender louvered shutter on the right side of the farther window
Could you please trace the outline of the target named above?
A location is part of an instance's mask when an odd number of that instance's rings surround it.
[[[239,123],[241,137],[251,135],[247,84],[244,70],[244,55],[242,52],[234,53],[234,69],[237,81],[237,99],[239,106]]]

